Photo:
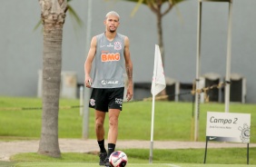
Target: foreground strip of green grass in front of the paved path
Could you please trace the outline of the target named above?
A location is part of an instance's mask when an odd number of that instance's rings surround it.
[[[117,148],[118,150],[118,148]],[[128,155],[129,165],[132,164],[149,164],[149,149],[123,149]],[[249,163],[256,165],[255,160],[256,148],[250,149]],[[51,162],[51,163],[87,163],[98,162],[98,157],[95,153],[74,153],[64,152],[59,159],[39,155],[37,153],[19,153],[12,157],[12,161],[16,162]],[[179,150],[153,150],[153,164],[170,164],[170,163],[188,163],[188,164],[203,164],[204,149],[179,149]],[[51,164],[49,163],[49,164]],[[22,164],[22,163],[19,163]],[[226,149],[208,149],[206,164],[247,164],[246,149],[244,148],[226,148]]]

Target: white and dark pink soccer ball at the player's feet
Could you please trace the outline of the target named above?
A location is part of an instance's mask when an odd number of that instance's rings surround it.
[[[122,151],[115,151],[109,157],[109,163],[112,167],[124,167],[127,162],[127,155]]]

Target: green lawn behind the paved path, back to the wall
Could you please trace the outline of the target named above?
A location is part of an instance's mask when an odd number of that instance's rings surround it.
[[[78,106],[79,100],[60,101],[60,106]],[[41,107],[41,99],[0,97],[0,136],[39,139],[41,110],[3,110],[3,108]],[[192,141],[192,103],[156,102],[154,115],[154,140]],[[199,141],[205,141],[207,111],[224,112],[224,103],[202,103],[200,107]],[[2,109],[2,110],[1,110]],[[230,113],[251,113],[251,142],[256,142],[255,104],[231,103]],[[150,140],[152,103],[124,103],[120,115],[119,140]],[[106,119],[106,128],[107,128]],[[81,138],[83,117],[79,108],[59,111],[59,137]],[[90,110],[89,138],[94,139],[94,111]]]

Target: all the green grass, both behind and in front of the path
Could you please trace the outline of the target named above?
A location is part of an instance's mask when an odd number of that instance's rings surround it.
[[[79,100],[61,99],[60,106],[78,106]],[[41,107],[41,99],[0,97],[0,140],[39,139],[41,110],[21,110],[22,107]],[[205,142],[206,114],[224,112],[224,103],[202,103],[200,106],[199,141]],[[156,102],[154,141],[192,141],[193,103]],[[255,104],[231,103],[230,113],[251,113],[251,142],[255,143]],[[148,140],[151,134],[152,102],[123,103],[118,140]],[[106,121],[106,125],[107,125]],[[59,138],[82,138],[83,117],[79,108],[60,109]],[[94,111],[90,110],[89,138],[95,139]],[[107,128],[107,126],[106,126]],[[124,150],[129,157],[127,166],[245,166],[246,149],[209,149],[203,164],[204,149],[154,150],[153,164],[149,164],[149,150]],[[256,148],[250,149],[250,164],[255,166]],[[15,166],[98,166],[98,157],[84,153],[62,153],[61,159],[36,153],[21,153],[12,157]],[[0,166],[4,163],[0,162]],[[2,164],[3,163],[3,164]],[[237,165],[235,165],[237,164]],[[250,166],[253,166],[250,165]],[[248,166],[248,165],[246,165]]]

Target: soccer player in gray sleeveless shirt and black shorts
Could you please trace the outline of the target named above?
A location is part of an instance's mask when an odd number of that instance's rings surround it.
[[[84,63],[85,80],[93,88],[89,107],[95,110],[95,133],[100,147],[100,165],[109,165],[109,156],[114,152],[118,136],[118,117],[122,111],[124,77],[127,74],[126,98],[133,97],[133,63],[130,56],[129,38],[116,32],[120,16],[111,11],[105,15],[105,32],[92,38],[89,53]],[[94,65],[93,65],[94,61]],[[93,74],[91,75],[91,70]],[[92,77],[91,77],[92,76]],[[108,112],[108,151],[104,147],[104,119]]]

